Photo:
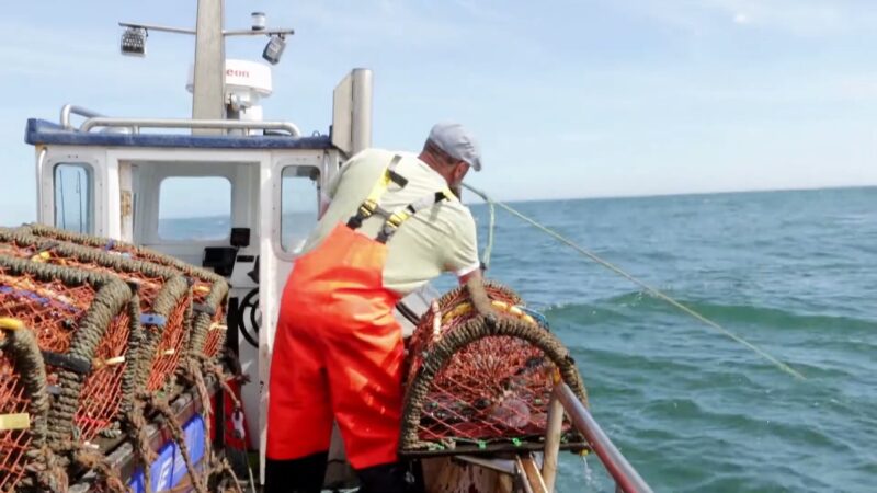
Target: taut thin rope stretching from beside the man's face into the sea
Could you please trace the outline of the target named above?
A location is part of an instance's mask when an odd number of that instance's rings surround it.
[[[519,219],[523,220],[524,222],[529,223],[531,226],[537,228],[538,230],[543,231],[544,233],[548,234],[549,237],[554,238],[555,240],[566,244],[567,246],[570,246],[571,249],[576,250],[577,252],[579,252],[580,254],[586,256],[588,259],[592,260],[593,262],[597,263],[599,265],[602,265],[603,267],[606,267],[610,271],[614,272],[615,274],[618,274],[619,276],[626,278],[627,280],[636,284],[637,286],[639,286],[642,289],[645,289],[646,293],[648,293],[649,295],[651,295],[651,296],[653,296],[656,298],[659,298],[659,299],[661,299],[663,301],[667,301],[671,306],[682,310],[683,312],[687,313],[688,316],[693,317],[694,319],[696,319],[696,320],[705,323],[706,325],[708,325],[708,326],[721,332],[722,334],[725,334],[729,339],[736,341],[737,343],[742,344],[743,346],[748,347],[750,351],[752,351],[753,353],[758,354],[762,358],[771,362],[774,366],[779,368],[782,371],[784,371],[784,372],[786,372],[786,374],[788,374],[788,375],[790,375],[790,376],[793,376],[793,377],[795,377],[795,378],[797,378],[799,380],[806,380],[807,379],[798,370],[796,370],[796,369],[791,368],[790,366],[788,366],[787,364],[781,362],[779,359],[777,359],[776,357],[772,356],[771,354],[768,354],[767,352],[765,352],[761,347],[752,344],[751,342],[747,341],[745,339],[741,337],[740,335],[734,334],[733,332],[729,331],[728,329],[725,329],[724,326],[719,325],[717,322],[714,322],[713,320],[709,320],[708,318],[702,316],[701,313],[694,311],[693,309],[682,305],[681,302],[679,302],[675,299],[671,298],[670,295],[664,294],[660,289],[654,288],[654,287],[646,284],[642,280],[639,280],[638,278],[636,278],[633,275],[628,274],[623,268],[616,266],[615,264],[613,264],[613,263],[611,263],[608,261],[603,260],[597,254],[595,254],[595,253],[591,252],[590,250],[577,244],[576,242],[573,242],[572,240],[563,237],[562,234],[558,233],[557,231],[548,228],[547,226],[544,226],[544,225],[539,223],[535,219],[532,219],[532,218],[519,213],[517,210],[515,210],[514,208],[512,208],[511,206],[509,206],[509,205],[506,205],[506,204],[504,204],[502,202],[493,200],[485,192],[482,192],[482,191],[480,191],[478,188],[475,188],[475,187],[472,187],[472,186],[470,186],[470,185],[468,185],[466,183],[464,183],[463,186],[465,186],[467,190],[471,191],[472,193],[475,193],[476,195],[481,197],[486,203],[488,203],[491,206],[491,221],[490,221],[491,231],[490,231],[490,236],[489,236],[490,240],[488,242],[488,245],[485,248],[485,257],[487,257],[488,260],[490,259],[490,253],[491,253],[491,250],[493,248],[493,241],[492,241],[493,240],[493,231],[492,231],[492,229],[493,229],[493,213],[492,213],[492,210],[493,210],[493,205],[496,204],[496,205],[502,207],[503,209],[505,209],[506,211],[509,211],[510,214],[512,214],[513,216],[515,216]]]

